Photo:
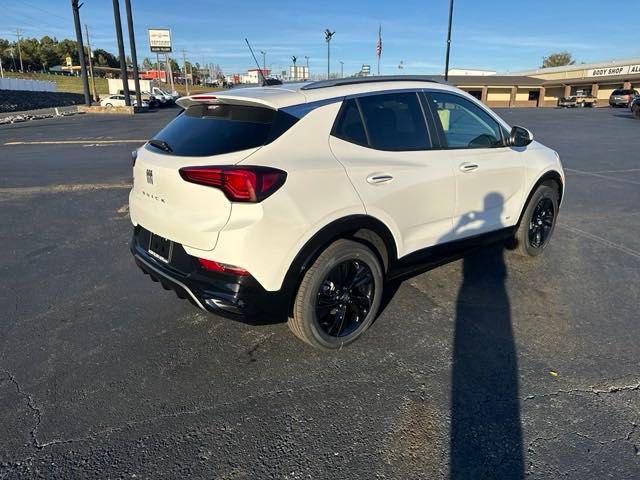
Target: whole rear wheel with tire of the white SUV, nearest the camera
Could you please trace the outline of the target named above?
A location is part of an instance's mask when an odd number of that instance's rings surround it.
[[[305,272],[289,328],[316,348],[335,350],[348,345],[376,318],[383,275],[380,260],[369,248],[337,240]]]

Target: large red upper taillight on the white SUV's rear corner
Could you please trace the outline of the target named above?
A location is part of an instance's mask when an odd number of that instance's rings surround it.
[[[261,202],[278,190],[287,178],[282,170],[268,167],[184,167],[187,182],[219,188],[232,202]]]

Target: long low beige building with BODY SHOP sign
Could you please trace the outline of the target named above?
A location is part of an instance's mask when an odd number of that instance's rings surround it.
[[[611,92],[640,88],[640,58],[541,68],[497,75],[450,75],[449,82],[490,107],[555,107],[584,93],[609,106]]]

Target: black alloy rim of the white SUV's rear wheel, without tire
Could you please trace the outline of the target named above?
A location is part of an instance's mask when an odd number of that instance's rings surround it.
[[[318,291],[317,322],[330,337],[344,337],[358,330],[371,311],[375,294],[373,273],[357,259],[335,265]]]

